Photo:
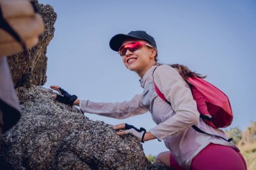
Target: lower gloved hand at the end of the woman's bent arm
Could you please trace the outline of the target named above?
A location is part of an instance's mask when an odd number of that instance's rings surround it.
[[[123,134],[133,134],[140,142],[144,142],[143,138],[146,134],[146,130],[144,128],[135,128],[132,125],[129,124],[118,124],[117,126],[114,126],[115,130],[119,130],[119,129],[125,129],[122,132],[117,132],[117,134],[119,135],[123,135]]]

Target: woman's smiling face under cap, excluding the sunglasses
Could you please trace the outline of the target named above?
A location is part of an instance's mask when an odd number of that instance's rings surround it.
[[[135,41],[145,42],[143,40],[125,40],[122,46]],[[155,56],[155,48],[142,46],[142,48],[139,48],[134,52],[127,49],[125,56],[122,56],[122,59],[127,69],[130,71],[135,71],[142,78],[148,69],[150,69],[153,65],[156,65]]]

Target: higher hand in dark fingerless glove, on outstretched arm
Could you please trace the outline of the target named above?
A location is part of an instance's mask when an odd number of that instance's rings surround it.
[[[53,97],[57,100],[60,101],[61,103],[65,103],[67,105],[79,105],[79,100],[77,100],[76,95],[70,95],[65,91],[64,89],[61,89],[61,87],[57,85],[51,85],[51,89],[54,89],[59,92],[60,95],[53,95]]]

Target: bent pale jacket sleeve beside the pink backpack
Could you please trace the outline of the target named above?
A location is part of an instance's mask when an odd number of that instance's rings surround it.
[[[191,89],[176,69],[161,65],[154,72],[154,81],[175,112],[172,117],[150,130],[154,136],[162,140],[199,123],[200,114]]]

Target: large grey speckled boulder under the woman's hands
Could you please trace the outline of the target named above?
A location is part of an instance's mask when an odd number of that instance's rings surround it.
[[[134,136],[86,118],[51,98],[43,87],[16,89],[20,122],[3,135],[2,167],[8,169],[166,169],[151,164]]]

